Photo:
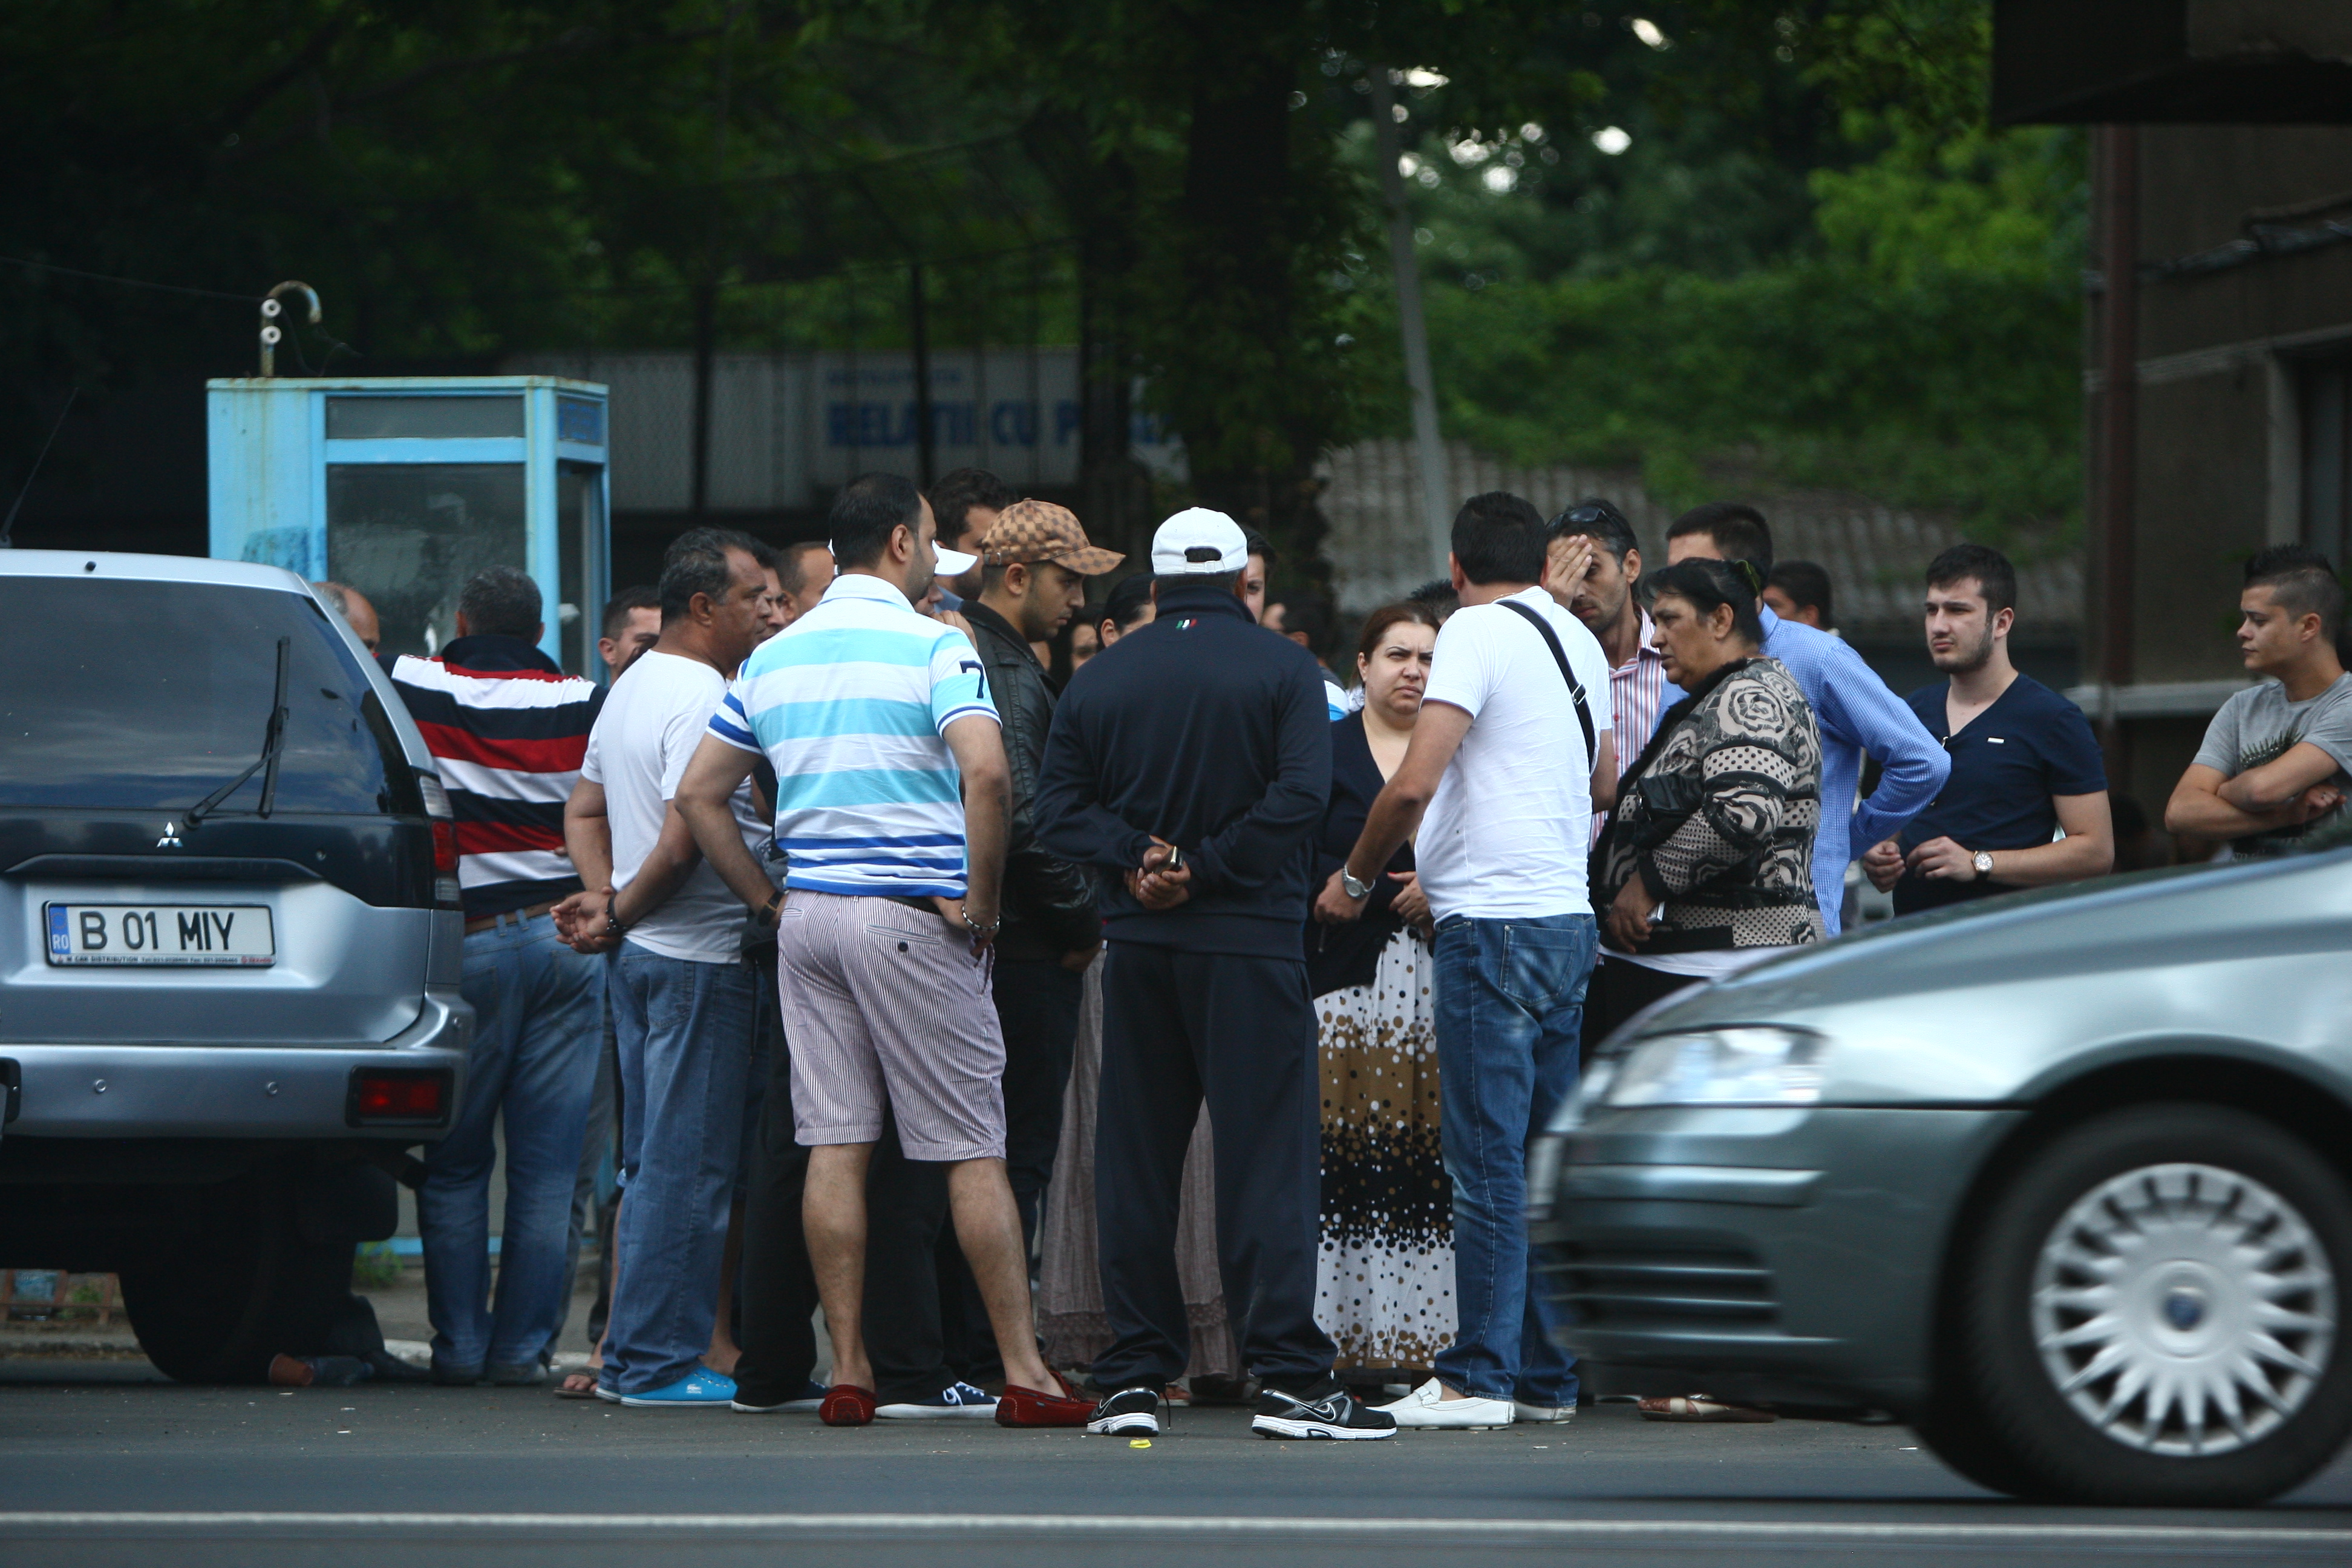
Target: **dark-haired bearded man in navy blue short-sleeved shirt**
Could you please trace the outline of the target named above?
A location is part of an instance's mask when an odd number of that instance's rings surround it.
[[[2091,724],[2009,663],[2018,574],[1999,550],[1952,545],[1926,569],[1926,651],[1950,679],[1910,693],[1952,776],[1910,825],[1863,856],[1896,914],[2114,865],[2107,773]],[[2058,837],[2065,830],[2065,837]]]

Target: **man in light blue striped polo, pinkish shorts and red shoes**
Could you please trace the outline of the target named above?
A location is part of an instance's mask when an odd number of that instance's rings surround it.
[[[908,1159],[948,1166],[955,1234],[1004,1356],[997,1422],[1084,1425],[1091,1403],[1037,1356],[1004,1175],[1004,1034],[988,990],[1011,795],[997,710],[971,639],[915,614],[938,571],[922,494],[894,475],[851,480],[830,531],[840,576],[743,663],[675,795],[710,867],[776,926],[793,1119],[809,1147],[802,1220],[833,1335],[818,1415],[875,1415],[866,1168],[889,1110]],[[786,891],[727,811],[762,755]]]

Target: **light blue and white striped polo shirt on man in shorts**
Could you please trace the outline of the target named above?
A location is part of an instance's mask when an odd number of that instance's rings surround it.
[[[943,733],[964,715],[997,717],[971,639],[844,574],[753,649],[710,733],[776,769],[786,886],[962,898],[962,776]]]

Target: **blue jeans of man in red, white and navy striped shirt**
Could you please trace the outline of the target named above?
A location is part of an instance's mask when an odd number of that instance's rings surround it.
[[[426,1185],[416,1192],[437,1371],[529,1366],[562,1326],[572,1182],[604,1032],[602,980],[604,964],[555,940],[546,914],[466,938],[459,990],[477,1016],[466,1098],[449,1135],[426,1152]],[[492,1302],[489,1128],[501,1114],[506,1215]]]

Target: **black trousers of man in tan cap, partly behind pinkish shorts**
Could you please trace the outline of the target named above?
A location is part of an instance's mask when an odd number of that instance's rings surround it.
[[[1084,976],[1054,961],[997,961],[1004,1173],[1030,1246],[1061,1147],[1061,1095],[1084,990]],[[880,1399],[927,1399],[955,1380],[1002,1378],[988,1305],[948,1222],[948,1168],[908,1159],[896,1128],[884,1128],[866,1175],[866,1347]]]

